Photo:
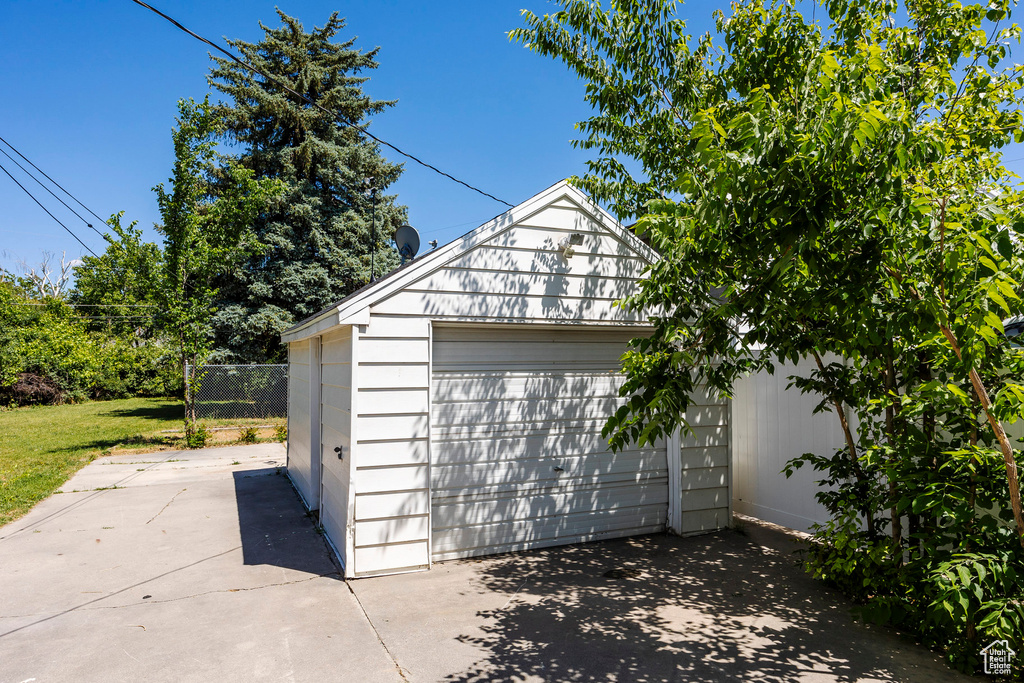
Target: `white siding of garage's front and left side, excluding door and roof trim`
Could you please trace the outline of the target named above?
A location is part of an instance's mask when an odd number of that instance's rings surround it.
[[[647,267],[635,245],[591,218],[569,195],[531,211],[516,214],[516,222],[480,244],[470,240],[468,251],[424,269],[419,280],[352,317],[351,327],[326,333],[317,422],[324,434],[322,519],[346,575],[429,566],[432,322],[590,328],[646,322],[613,305],[635,291]],[[566,259],[558,243],[572,233],[584,243]],[[302,386],[308,387],[308,351],[306,360],[290,351],[290,449],[298,456],[303,449],[308,454],[310,440],[308,428],[301,428],[309,422],[310,407],[301,399],[309,395]],[[671,458],[679,510],[673,526],[682,532],[729,521],[728,408],[709,399],[691,417],[699,426],[694,436],[675,439],[679,457]],[[346,438],[351,459],[339,464],[333,449]],[[308,458],[295,460],[289,471],[302,493],[311,481]]]

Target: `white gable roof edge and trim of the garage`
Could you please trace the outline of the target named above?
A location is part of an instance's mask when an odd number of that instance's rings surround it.
[[[380,280],[352,292],[347,297],[324,310],[299,322],[281,335],[284,343],[299,341],[338,325],[367,325],[370,322],[370,307],[412,283],[444,267],[466,252],[502,232],[523,222],[529,216],[560,201],[568,200],[584,214],[618,240],[626,243],[638,256],[653,263],[657,254],[631,230],[626,229],[607,211],[602,209],[588,195],[573,187],[568,180],[560,180],[547,189],[538,193],[525,202],[496,216],[461,238],[443,247],[430,251],[395,268]]]

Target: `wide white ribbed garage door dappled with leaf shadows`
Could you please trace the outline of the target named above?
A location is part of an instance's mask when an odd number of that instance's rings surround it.
[[[613,454],[601,437],[634,336],[434,329],[433,559],[665,529],[664,443]]]

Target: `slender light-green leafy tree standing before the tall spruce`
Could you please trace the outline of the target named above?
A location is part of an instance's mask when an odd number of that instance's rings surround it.
[[[209,103],[183,99],[174,129],[170,189],[154,187],[163,218],[164,326],[174,336],[185,384],[185,431],[197,430],[197,366],[212,343],[211,318],[217,276],[262,251],[252,224],[282,190],[274,179],[228,162],[218,167],[217,138],[223,123]],[[216,185],[214,173],[217,174]]]

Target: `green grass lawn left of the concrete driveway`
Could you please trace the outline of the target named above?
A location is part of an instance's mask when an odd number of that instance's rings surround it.
[[[183,409],[173,398],[125,398],[74,405],[0,411],[0,525],[16,519],[100,455],[183,447]],[[270,420],[211,420],[208,427],[285,424]],[[238,441],[236,430],[214,431],[213,444]],[[262,430],[261,440],[272,436]]]

